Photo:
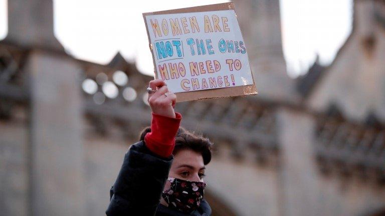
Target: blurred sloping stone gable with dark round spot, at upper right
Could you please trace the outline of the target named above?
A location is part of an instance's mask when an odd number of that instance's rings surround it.
[[[374,112],[385,120],[385,31],[374,16],[377,3],[355,1],[353,32],[314,86],[310,109],[324,111],[335,103],[348,118],[362,121]]]

